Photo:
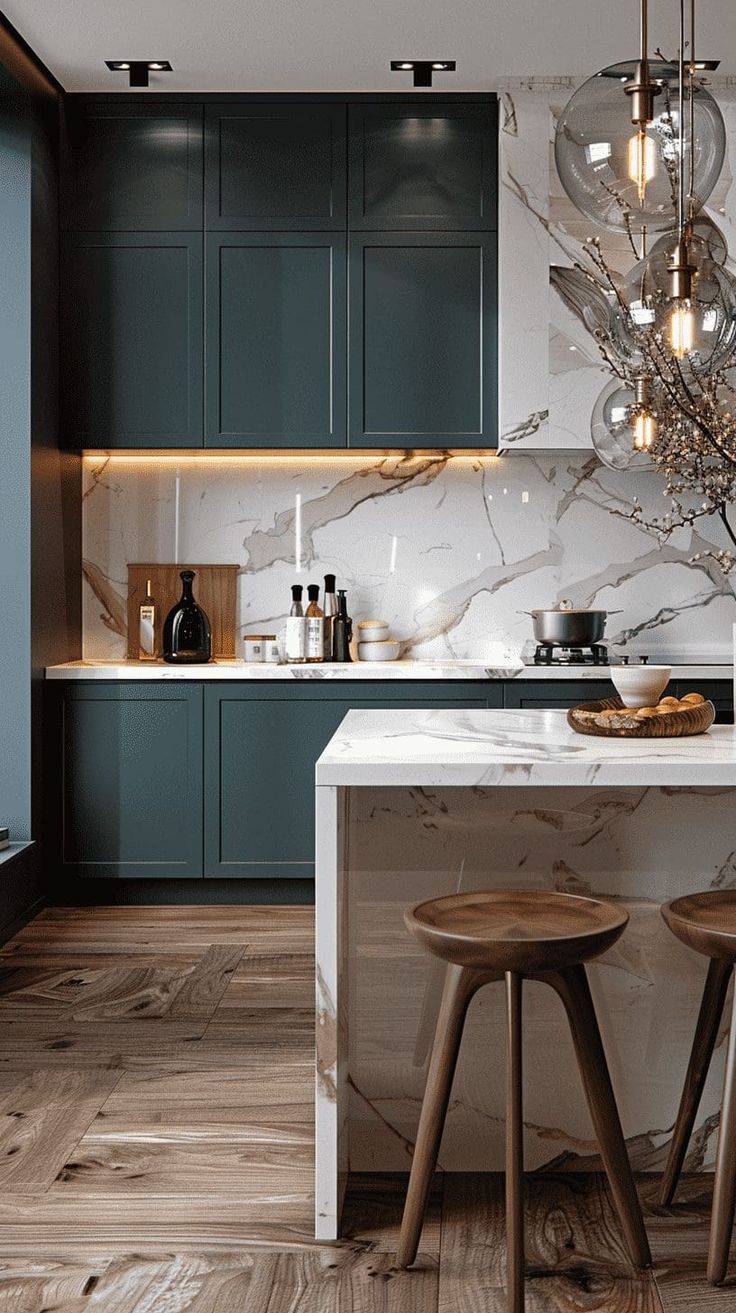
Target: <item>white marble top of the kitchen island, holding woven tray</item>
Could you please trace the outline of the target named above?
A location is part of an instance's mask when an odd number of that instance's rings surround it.
[[[348,712],[317,760],[316,784],[736,788],[736,729],[607,739],[576,734],[564,712]]]

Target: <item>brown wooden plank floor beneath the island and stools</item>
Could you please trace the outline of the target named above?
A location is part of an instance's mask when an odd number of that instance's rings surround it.
[[[0,1313],[505,1313],[497,1176],[437,1179],[412,1272],[403,1178],[312,1239],[312,968],[306,907],[49,909],[0,948]],[[710,1179],[655,1186],[638,1274],[602,1178],[527,1178],[527,1313],[736,1306]]]

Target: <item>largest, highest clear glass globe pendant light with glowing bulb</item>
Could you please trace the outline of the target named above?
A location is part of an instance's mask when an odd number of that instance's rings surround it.
[[[647,39],[647,0],[640,0],[639,59],[589,77],[565,105],[555,133],[555,163],[569,200],[594,223],[618,232],[672,228],[672,179],[685,172],[695,213],[726,155],[723,116],[694,76],[694,60],[685,134],[682,60],[649,59]]]

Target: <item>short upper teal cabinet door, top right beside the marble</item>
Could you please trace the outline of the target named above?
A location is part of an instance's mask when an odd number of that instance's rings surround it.
[[[349,225],[495,228],[496,105],[352,105]]]

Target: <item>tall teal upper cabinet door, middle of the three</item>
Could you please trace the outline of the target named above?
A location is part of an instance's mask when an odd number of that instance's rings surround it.
[[[345,238],[207,236],[210,446],[345,445]]]

